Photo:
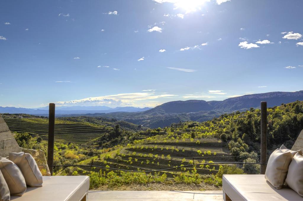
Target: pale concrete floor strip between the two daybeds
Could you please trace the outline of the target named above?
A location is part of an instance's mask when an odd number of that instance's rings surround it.
[[[222,201],[221,190],[206,191],[89,191],[88,201]]]

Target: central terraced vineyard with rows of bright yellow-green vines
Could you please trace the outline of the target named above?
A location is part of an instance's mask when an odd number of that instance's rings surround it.
[[[199,141],[200,144],[196,143]],[[194,139],[185,141],[156,141],[127,146],[116,154],[108,154],[104,158],[94,159],[94,165],[109,166],[125,170],[160,170],[169,167],[208,162],[234,162],[230,157],[225,143],[216,138]],[[194,158],[193,158],[194,157]],[[89,164],[90,161],[87,161]],[[197,165],[197,173],[217,173],[219,165]],[[178,168],[164,171],[168,179],[181,172],[193,170],[192,167]],[[98,171],[98,169],[96,169]]]

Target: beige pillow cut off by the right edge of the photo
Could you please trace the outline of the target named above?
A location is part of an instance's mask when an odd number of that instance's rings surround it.
[[[295,154],[288,167],[288,173],[285,182],[288,187],[303,196],[303,156]]]

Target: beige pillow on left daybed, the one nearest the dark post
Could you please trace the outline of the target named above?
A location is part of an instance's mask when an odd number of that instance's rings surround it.
[[[31,154],[25,154],[24,152],[9,153],[8,159],[13,161],[20,168],[25,183],[28,186],[42,186],[42,174]]]

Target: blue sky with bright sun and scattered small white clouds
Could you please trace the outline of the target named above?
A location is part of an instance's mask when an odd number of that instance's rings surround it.
[[[0,106],[303,89],[303,1],[0,1]]]

